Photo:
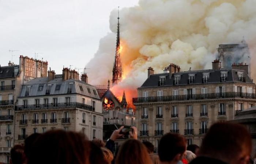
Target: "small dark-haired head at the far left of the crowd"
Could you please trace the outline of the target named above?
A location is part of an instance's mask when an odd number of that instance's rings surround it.
[[[15,145],[11,149],[10,153],[11,153],[10,164],[25,164],[26,163],[24,147],[22,145]]]

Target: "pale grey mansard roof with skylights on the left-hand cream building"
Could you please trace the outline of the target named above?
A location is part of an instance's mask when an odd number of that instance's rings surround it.
[[[35,78],[27,82],[25,85],[22,85],[19,97],[28,97],[26,96],[28,86],[30,86],[29,97],[46,95],[48,85],[50,85],[49,95],[80,94],[87,97],[100,99],[96,88],[83,81],[76,79],[68,79],[66,81],[62,81],[62,78],[55,78],[51,81],[48,81],[48,77]],[[56,88],[57,85],[60,85],[59,90]],[[42,86],[42,90],[39,90],[39,86]],[[71,86],[71,93],[68,92],[69,86]],[[96,94],[94,94],[94,92]]]

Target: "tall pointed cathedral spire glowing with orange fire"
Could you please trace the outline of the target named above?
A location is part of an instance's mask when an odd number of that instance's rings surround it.
[[[121,62],[121,47],[120,47],[120,34],[119,34],[119,7],[118,7],[118,23],[117,23],[117,37],[116,37],[116,56],[113,66],[112,86],[122,80],[122,62]]]

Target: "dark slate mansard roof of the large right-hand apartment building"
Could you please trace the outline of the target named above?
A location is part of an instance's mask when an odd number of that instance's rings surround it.
[[[184,71],[179,73],[173,73],[172,77],[169,78],[169,73],[153,74],[142,84],[140,88],[143,87],[158,87],[158,81],[160,76],[165,76],[164,86],[174,86],[174,75],[181,75],[179,85],[188,85],[188,76],[189,74],[195,74],[195,80],[193,84],[202,84],[203,83],[203,73],[209,73],[208,83],[220,83],[221,82],[221,72],[227,71],[226,82],[241,82],[238,78],[237,71],[243,72],[243,77],[245,77],[246,83],[252,83],[252,80],[246,74],[244,70],[234,70],[234,69],[220,69],[220,70],[196,70],[196,71]],[[193,85],[191,84],[191,85]],[[177,85],[175,85],[177,86]]]

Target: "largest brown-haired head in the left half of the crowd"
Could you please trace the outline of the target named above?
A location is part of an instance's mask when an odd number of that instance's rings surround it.
[[[89,164],[90,145],[81,133],[50,130],[34,142],[28,164]]]

